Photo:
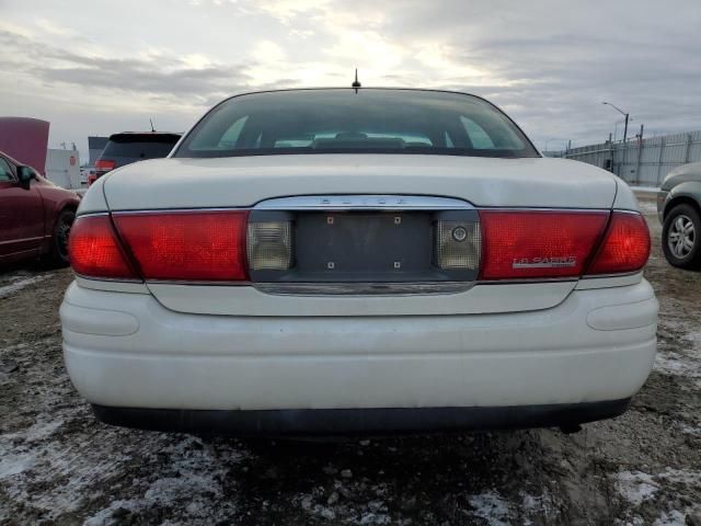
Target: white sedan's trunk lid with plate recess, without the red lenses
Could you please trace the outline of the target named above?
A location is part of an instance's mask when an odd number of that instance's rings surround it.
[[[148,176],[140,175],[146,172]],[[301,274],[256,273],[249,260],[251,283],[245,284],[147,278],[151,293],[175,311],[476,315],[553,307],[578,276],[487,284],[480,283],[476,268],[467,274],[437,272],[432,247],[440,214],[463,214],[443,219],[470,228],[470,221],[479,222],[478,209],[604,213],[613,203],[616,182],[578,163],[548,159],[315,155],[147,161],[107,180],[105,196],[117,225],[119,215],[129,210],[245,208],[251,209],[249,225],[295,214],[295,263]],[[410,206],[425,203],[424,197],[430,206]],[[292,206],[290,211],[280,204],[296,198],[306,199],[307,207]],[[453,204],[441,208],[436,205],[440,199]],[[274,216],[261,219],[260,213]]]

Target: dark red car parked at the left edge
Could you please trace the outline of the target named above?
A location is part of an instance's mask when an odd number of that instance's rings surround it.
[[[80,197],[0,151],[0,264],[42,256],[68,264]]]

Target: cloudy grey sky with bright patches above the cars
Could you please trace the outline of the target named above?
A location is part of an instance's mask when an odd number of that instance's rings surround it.
[[[311,85],[485,96],[541,148],[701,129],[701,3],[503,0],[0,0],[0,115],[50,145],[184,130],[230,94]],[[618,124],[619,137],[622,124]]]

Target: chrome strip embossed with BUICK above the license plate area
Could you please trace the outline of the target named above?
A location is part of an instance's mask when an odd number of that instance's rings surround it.
[[[470,203],[427,195],[298,195],[257,203],[254,210],[464,210]]]

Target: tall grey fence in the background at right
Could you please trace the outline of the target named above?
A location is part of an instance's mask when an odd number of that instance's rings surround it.
[[[659,186],[673,168],[701,161],[701,130],[572,148],[562,157],[608,170],[639,186]]]

